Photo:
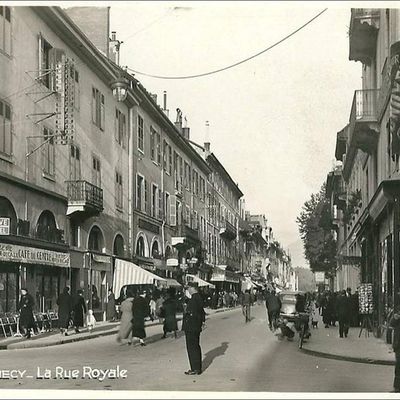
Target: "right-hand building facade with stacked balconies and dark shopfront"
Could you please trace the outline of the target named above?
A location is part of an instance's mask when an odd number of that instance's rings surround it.
[[[351,10],[349,58],[362,64],[362,89],[337,136],[342,171],[332,194],[343,261],[337,285],[354,282],[356,270],[361,283],[373,284],[379,333],[399,302],[399,18],[397,9]]]

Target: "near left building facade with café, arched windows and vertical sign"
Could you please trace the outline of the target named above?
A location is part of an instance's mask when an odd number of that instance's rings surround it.
[[[128,256],[130,97],[115,70],[57,7],[6,7],[0,49],[3,311],[26,286],[38,311],[64,286],[104,310],[113,255]],[[4,26],[4,21],[2,21]],[[5,232],[3,232],[5,233]],[[3,272],[4,271],[4,272]]]

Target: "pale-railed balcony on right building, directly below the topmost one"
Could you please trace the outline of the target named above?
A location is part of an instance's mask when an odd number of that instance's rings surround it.
[[[372,154],[379,139],[377,98],[379,89],[356,90],[348,125],[347,153],[343,177],[347,181],[357,149]]]

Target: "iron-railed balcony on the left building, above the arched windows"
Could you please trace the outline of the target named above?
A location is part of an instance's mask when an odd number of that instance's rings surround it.
[[[87,181],[67,181],[67,215],[96,215],[103,211],[103,189]]]

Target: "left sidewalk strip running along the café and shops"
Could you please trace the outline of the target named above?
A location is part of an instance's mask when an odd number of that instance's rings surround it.
[[[237,308],[237,307],[236,307]],[[206,308],[206,315],[213,315],[219,312],[234,310],[236,308],[220,308],[211,310]],[[182,320],[182,314],[177,315],[178,321]],[[146,327],[154,325],[162,325],[159,320],[146,321]],[[61,336],[60,331],[56,328],[51,332],[40,333],[32,336],[31,339],[20,337],[8,337],[0,340],[0,350],[15,349],[32,349],[48,346],[56,346],[65,343],[79,342],[81,340],[95,339],[101,336],[115,335],[119,329],[119,321],[117,322],[99,322],[96,328],[89,333],[87,328],[81,328],[80,333],[75,333],[73,329],[69,330],[69,336]]]

